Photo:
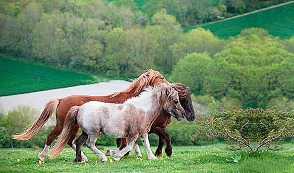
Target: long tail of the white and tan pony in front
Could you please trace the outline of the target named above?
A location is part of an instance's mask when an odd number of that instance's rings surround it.
[[[64,125],[63,125],[63,130],[58,138],[57,143],[54,145],[52,150],[50,151],[50,157],[51,158],[56,158],[63,148],[66,146],[74,128],[76,125],[76,115],[78,113],[79,106],[73,106],[70,108],[70,110],[67,113]]]

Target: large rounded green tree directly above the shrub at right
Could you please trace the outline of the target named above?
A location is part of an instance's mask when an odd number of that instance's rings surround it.
[[[290,64],[294,55],[264,33],[255,28],[242,31],[214,56],[218,64],[224,65],[223,73],[229,74],[230,87],[225,95],[238,98],[244,107],[264,107],[267,100],[286,94],[283,91],[293,92],[288,86],[293,82]]]

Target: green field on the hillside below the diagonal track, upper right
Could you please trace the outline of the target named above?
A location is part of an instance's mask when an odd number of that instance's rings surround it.
[[[240,34],[242,29],[251,27],[264,28],[275,37],[289,39],[294,35],[294,3],[198,27],[209,29],[221,39],[234,37]],[[184,31],[187,32],[193,28],[195,27],[185,28]]]

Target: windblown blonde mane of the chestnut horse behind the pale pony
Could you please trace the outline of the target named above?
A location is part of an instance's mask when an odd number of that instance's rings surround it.
[[[132,80],[131,85],[125,90],[113,93],[112,97],[115,97],[120,93],[130,92],[133,89],[135,89],[133,94],[138,94],[144,87],[150,86],[150,84],[152,84],[155,78],[157,78],[159,75],[160,73],[158,71],[149,69],[147,72],[143,73],[137,79]]]

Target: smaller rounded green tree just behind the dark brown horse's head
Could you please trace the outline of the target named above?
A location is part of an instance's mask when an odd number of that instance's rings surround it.
[[[221,71],[208,52],[191,53],[178,61],[171,79],[190,86],[195,95],[219,96],[229,87],[227,76],[218,73]]]

